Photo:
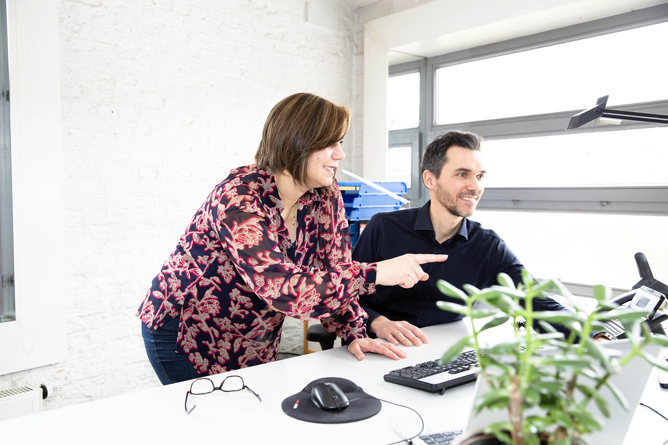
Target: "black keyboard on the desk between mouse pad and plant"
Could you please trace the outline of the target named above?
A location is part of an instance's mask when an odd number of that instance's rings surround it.
[[[438,359],[432,362],[406,366],[390,371],[383,376],[385,382],[411,386],[418,390],[438,392],[443,395],[446,389],[476,380],[478,357],[474,351],[462,352],[450,364],[441,366]]]

